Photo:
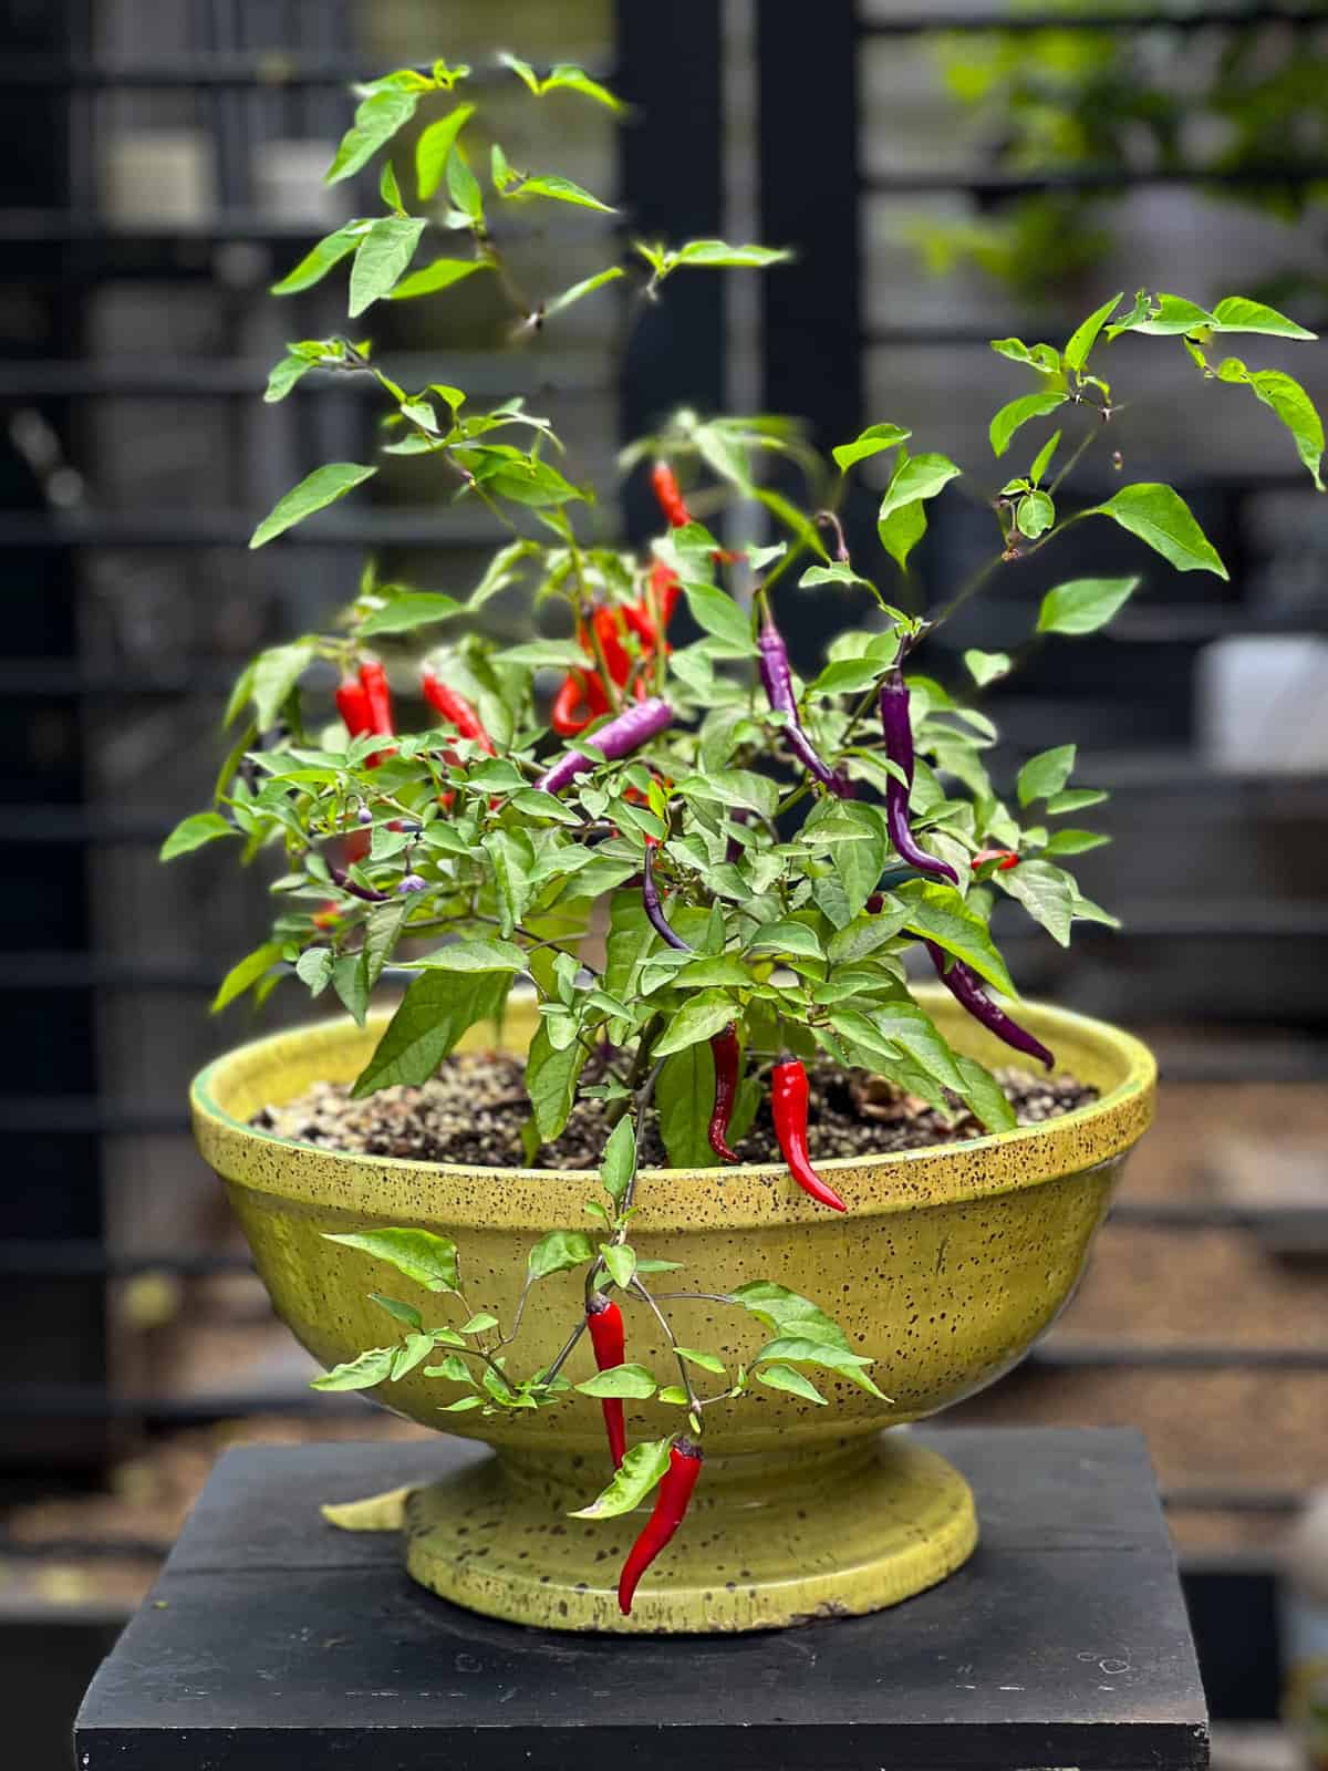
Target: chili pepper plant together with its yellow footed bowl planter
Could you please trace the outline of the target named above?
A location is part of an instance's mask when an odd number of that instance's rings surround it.
[[[538,99],[616,108],[581,69],[508,66]],[[606,205],[492,140],[482,181],[466,76],[437,62],[361,89],[329,177],[432,106],[413,168],[430,207],[409,213],[384,159],[382,213],[278,294],[349,259],[356,321],[476,278],[531,331],[629,275],[519,294],[503,218]],[[464,251],[413,267],[436,230]],[[645,299],[781,257],[632,246]],[[197,1135],[278,1314],[331,1367],[315,1387],[494,1447],[405,1500],[407,1562],[436,1592],[565,1629],[754,1629],[891,1605],[970,1553],[961,1477],[882,1429],[990,1383],[1054,1319],[1149,1123],[1153,1061],[1018,1002],[992,933],[1008,901],[1061,944],[1112,921],[1066,870],[1100,838],[1064,818],[1103,795],[1071,785],[1071,744],[1002,792],[977,700],[1016,657],[965,653],[951,691],[919,661],[983,583],[1071,524],[1225,577],[1167,485],[1123,478],[1061,508],[1080,457],[1119,432],[1107,349],[1140,333],[1254,393],[1317,483],[1303,390],[1220,354],[1227,333],[1301,328],[1241,298],[1114,296],[1061,349],[995,340],[1013,398],[992,452],[1029,466],[976,471],[995,480],[992,561],[926,615],[889,579],[960,468],[896,421],[830,466],[786,421],[682,413],[623,457],[660,512],[632,551],[521,398],[407,390],[342,335],[273,370],[271,400],[312,370],[372,377],[384,452],[418,457],[498,540],[464,597],[368,572],[335,632],[257,657],[216,804],[165,845],[276,862],[271,937],[216,1008],[287,983],[345,1009],[211,1064]],[[838,517],[864,462],[885,469],[871,560],[850,558]],[[770,464],[804,476],[802,503],[770,489]],[[253,545],[374,473],[315,468]],[[763,505],[777,538],[726,545],[694,512],[728,501]],[[565,636],[476,632],[517,584]],[[1100,629],[1137,584],[1057,586],[1029,643]],[[799,682],[779,606],[829,595],[866,618]],[[701,638],[671,646],[680,599]],[[398,719],[416,694],[423,717]]]

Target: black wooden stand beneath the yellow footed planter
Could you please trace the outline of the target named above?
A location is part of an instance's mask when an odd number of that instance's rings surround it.
[[[924,1435],[983,1543],[873,1617],[751,1636],[522,1629],[416,1589],[319,1518],[437,1445],[232,1450],[97,1674],[78,1771],[1188,1771],[1208,1718],[1144,1443]]]

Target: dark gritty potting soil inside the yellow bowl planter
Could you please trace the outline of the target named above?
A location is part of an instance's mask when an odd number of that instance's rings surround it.
[[[1036,1077],[1025,1070],[997,1070],[1020,1125],[1038,1125],[1098,1098],[1098,1091],[1073,1077]],[[956,1100],[956,1118],[928,1107],[880,1077],[861,1070],[816,1064],[811,1084],[807,1146],[813,1158],[889,1155],[928,1144],[954,1144],[981,1137],[983,1128]],[[351,1100],[344,1082],[315,1082],[283,1107],[264,1107],[250,1125],[301,1144],[344,1149],[365,1156],[407,1156],[416,1162],[462,1162],[485,1167],[526,1167],[521,1128],[529,1118],[522,1066],[499,1052],[460,1052],[448,1057],[432,1080],[420,1087],[379,1089]],[[593,1169],[606,1139],[598,1102],[581,1102],[561,1137],[535,1158],[540,1169]],[[781,1162],[770,1121],[768,1096],[761,1100],[747,1135],[735,1146],[742,1162]],[[666,1162],[664,1146],[650,1118],[645,1165]]]

